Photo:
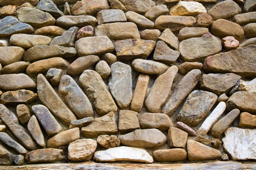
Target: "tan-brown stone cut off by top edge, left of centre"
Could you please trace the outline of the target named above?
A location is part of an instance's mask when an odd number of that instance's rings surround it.
[[[72,8],[72,15],[91,15],[94,16],[99,11],[109,9],[107,0],[81,0]]]

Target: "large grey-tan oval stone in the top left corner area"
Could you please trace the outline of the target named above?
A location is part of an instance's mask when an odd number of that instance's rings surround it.
[[[20,22],[27,23],[35,28],[53,26],[55,24],[55,19],[51,14],[39,9],[22,7],[16,12]]]

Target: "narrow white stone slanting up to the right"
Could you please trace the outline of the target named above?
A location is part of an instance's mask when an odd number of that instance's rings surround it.
[[[210,130],[212,125],[220,118],[222,113],[226,109],[226,103],[220,102],[216,108],[212,111],[212,113],[205,119],[204,123],[197,131],[197,135],[206,135],[207,132]]]

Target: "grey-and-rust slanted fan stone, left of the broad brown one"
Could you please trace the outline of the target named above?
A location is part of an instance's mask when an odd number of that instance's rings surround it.
[[[93,116],[93,108],[89,99],[69,75],[61,77],[58,93],[63,96],[65,102],[79,119]]]

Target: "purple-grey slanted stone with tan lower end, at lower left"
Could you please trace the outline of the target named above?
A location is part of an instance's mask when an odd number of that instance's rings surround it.
[[[35,113],[35,116],[37,116],[47,135],[55,135],[62,130],[61,125],[59,125],[47,107],[44,105],[33,105],[32,110]]]

